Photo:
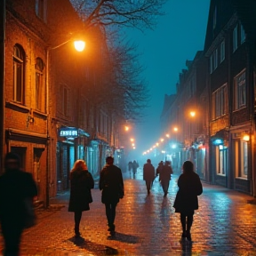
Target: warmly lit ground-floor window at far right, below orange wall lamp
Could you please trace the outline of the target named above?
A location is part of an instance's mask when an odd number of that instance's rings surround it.
[[[235,140],[236,178],[247,178],[248,175],[248,142]]]

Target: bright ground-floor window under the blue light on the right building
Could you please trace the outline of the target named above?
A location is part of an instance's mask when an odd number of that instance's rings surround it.
[[[224,145],[216,146],[216,172],[226,175],[228,168],[228,148]]]

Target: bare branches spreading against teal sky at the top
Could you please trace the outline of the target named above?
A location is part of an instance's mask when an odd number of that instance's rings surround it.
[[[133,28],[154,28],[156,18],[163,15],[167,0],[71,0],[84,20],[85,28],[120,25]]]

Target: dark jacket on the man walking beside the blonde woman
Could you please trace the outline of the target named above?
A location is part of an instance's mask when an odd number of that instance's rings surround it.
[[[121,169],[116,165],[106,164],[100,172],[101,202],[103,204],[117,204],[124,196],[124,180]]]

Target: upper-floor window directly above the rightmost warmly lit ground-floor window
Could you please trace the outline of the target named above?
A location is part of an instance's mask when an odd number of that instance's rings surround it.
[[[239,108],[244,108],[246,105],[246,81],[245,81],[245,71],[240,73],[234,79],[234,103],[235,110]]]

